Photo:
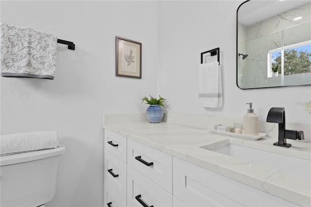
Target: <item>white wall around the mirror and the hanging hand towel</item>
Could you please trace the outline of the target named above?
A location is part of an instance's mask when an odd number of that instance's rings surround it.
[[[158,20],[158,93],[168,99],[168,112],[242,117],[253,102],[259,119],[271,107],[285,107],[286,121],[311,122],[304,104],[311,87],[241,90],[236,86],[236,11],[243,1],[160,1]],[[173,12],[172,12],[173,11]],[[198,102],[200,53],[220,47],[223,107]]]

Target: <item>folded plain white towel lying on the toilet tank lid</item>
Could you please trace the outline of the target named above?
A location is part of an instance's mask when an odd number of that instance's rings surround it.
[[[59,140],[56,131],[18,133],[1,135],[0,137],[1,156],[52,149],[58,146]]]

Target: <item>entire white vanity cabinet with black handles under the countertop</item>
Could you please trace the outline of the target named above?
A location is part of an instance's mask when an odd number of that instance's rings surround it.
[[[104,207],[296,206],[130,138],[104,134]]]

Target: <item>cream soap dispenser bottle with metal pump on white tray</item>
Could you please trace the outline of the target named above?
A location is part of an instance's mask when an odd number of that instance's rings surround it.
[[[259,118],[256,113],[254,113],[254,109],[252,108],[253,103],[249,104],[249,109],[247,109],[247,113],[244,115],[244,135],[258,136],[259,135]]]

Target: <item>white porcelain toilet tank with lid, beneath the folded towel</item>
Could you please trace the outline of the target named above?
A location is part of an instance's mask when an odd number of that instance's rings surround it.
[[[0,206],[37,207],[53,198],[61,144],[54,149],[0,157]]]

